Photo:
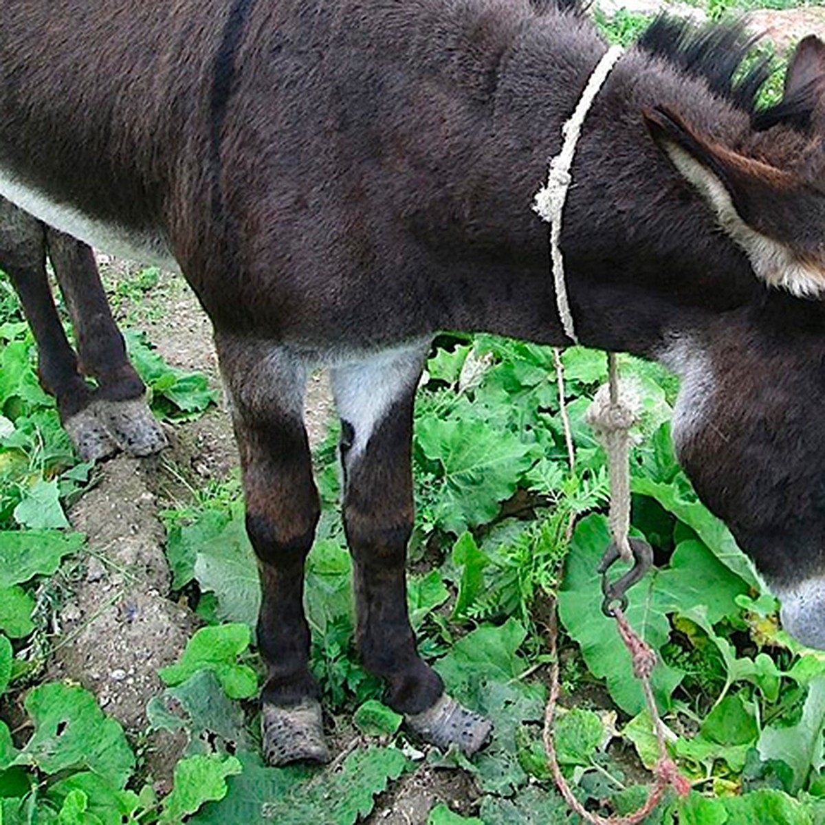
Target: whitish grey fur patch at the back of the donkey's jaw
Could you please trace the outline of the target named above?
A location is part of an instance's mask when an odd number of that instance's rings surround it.
[[[705,426],[712,411],[716,380],[705,349],[692,337],[674,337],[657,360],[679,376],[671,432],[676,449]]]

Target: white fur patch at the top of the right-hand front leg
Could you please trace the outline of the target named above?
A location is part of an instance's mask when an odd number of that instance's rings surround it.
[[[375,427],[418,380],[430,342],[376,352],[332,368],[332,395],[341,420],[352,427],[347,464],[363,455]]]

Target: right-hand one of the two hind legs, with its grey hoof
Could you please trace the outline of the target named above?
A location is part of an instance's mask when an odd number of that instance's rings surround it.
[[[130,455],[163,450],[166,436],[149,411],[144,382],[126,355],[92,249],[50,227],[46,228],[46,241],[72,316],[82,370],[97,379],[95,415]]]

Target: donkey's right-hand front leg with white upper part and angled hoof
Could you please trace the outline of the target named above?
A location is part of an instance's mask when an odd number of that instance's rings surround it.
[[[419,657],[409,623],[405,562],[413,530],[410,441],[426,346],[394,350],[332,370],[342,419],[344,527],[353,559],[356,636],[365,667],[389,684],[389,704],[413,733],[472,755],[487,719],[444,692]]]

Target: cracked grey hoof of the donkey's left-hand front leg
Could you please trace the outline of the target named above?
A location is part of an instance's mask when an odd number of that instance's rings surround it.
[[[289,708],[264,705],[261,733],[264,758],[273,767],[290,762],[329,761],[321,705],[315,700],[306,700]]]

